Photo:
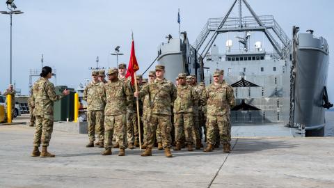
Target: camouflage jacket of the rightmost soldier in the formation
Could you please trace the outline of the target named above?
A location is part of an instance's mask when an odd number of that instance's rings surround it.
[[[234,106],[233,89],[225,81],[221,84],[210,84],[206,90],[207,115],[230,115]]]

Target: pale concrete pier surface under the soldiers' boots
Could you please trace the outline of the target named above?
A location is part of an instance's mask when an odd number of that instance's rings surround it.
[[[54,130],[55,158],[30,157],[34,127],[0,126],[0,187],[333,187],[334,138],[234,137],[233,151],[126,150],[102,156],[86,134]]]

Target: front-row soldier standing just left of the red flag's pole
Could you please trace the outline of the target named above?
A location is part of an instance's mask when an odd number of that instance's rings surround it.
[[[111,140],[115,130],[118,137],[120,152],[118,156],[125,155],[125,127],[127,125],[127,106],[132,104],[133,94],[131,88],[124,81],[118,79],[118,69],[108,70],[108,83],[104,84],[103,97],[106,101],[104,109],[104,152],[102,155],[111,155]]]

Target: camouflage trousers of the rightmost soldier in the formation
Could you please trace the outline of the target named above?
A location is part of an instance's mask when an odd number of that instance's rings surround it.
[[[230,116],[207,116],[207,143],[215,143],[215,130],[218,130],[221,143],[230,143]]]

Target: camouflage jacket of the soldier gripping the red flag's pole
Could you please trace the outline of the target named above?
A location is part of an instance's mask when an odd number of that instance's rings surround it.
[[[171,115],[170,105],[175,101],[177,91],[174,84],[166,79],[155,79],[152,83],[143,86],[139,98],[150,95],[148,100],[151,113]]]

